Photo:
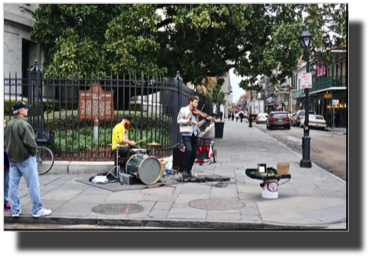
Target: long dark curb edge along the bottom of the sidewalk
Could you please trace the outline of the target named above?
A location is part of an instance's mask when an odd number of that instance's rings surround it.
[[[204,220],[154,220],[154,219],[105,219],[105,218],[70,218],[70,217],[4,217],[4,224],[31,225],[89,225],[103,227],[150,227],[150,228],[187,228],[187,229],[228,229],[228,230],[274,230],[274,229],[326,229],[329,224],[290,225],[281,223],[221,222]],[[334,224],[334,223],[330,223]]]

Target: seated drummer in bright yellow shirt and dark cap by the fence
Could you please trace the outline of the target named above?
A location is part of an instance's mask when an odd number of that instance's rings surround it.
[[[127,157],[131,146],[135,146],[136,142],[128,139],[129,125],[132,122],[131,115],[125,114],[120,123],[116,124],[112,132],[112,144],[123,144],[129,147],[119,147],[120,157]],[[112,146],[111,155],[115,155],[117,146]]]

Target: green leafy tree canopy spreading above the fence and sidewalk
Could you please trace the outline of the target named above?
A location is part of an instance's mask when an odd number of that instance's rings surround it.
[[[234,68],[250,77],[240,87],[255,90],[258,75],[281,83],[305,58],[303,23],[313,35],[311,58],[331,61],[328,49],[346,37],[345,5],[336,4],[44,4],[33,16],[31,38],[44,44],[49,73],[179,71],[201,84]]]

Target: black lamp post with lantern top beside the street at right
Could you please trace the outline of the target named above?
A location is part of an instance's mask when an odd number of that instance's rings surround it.
[[[309,50],[313,36],[306,30],[305,24],[302,26],[302,33],[299,37],[302,48],[306,49],[306,73],[309,73]],[[301,168],[311,168],[310,161],[310,136],[309,136],[309,89],[305,88],[305,124],[302,137],[302,160]]]

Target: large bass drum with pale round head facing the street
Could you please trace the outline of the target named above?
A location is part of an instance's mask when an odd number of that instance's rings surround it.
[[[156,183],[162,174],[162,165],[157,158],[140,154],[132,155],[125,169],[147,185]]]

